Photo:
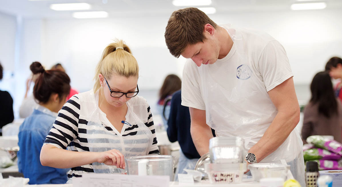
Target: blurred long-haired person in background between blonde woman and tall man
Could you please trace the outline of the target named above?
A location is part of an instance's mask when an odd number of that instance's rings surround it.
[[[170,101],[172,94],[182,88],[181,79],[174,75],[166,76],[163,85],[159,90],[159,100],[157,102],[157,110],[163,119],[165,130],[168,128],[168,118],[170,113]]]

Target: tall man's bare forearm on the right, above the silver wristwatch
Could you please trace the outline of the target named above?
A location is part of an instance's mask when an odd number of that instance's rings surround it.
[[[298,124],[299,115],[299,109],[291,115],[287,112],[278,112],[259,142],[248,152],[254,153],[258,162],[274,152]]]

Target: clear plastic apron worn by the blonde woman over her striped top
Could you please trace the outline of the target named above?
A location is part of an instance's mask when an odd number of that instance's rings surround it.
[[[90,112],[91,115],[87,118],[88,127],[87,134],[89,134],[88,143],[89,143],[89,151],[91,152],[103,152],[111,149],[119,150],[124,158],[130,156],[140,156],[140,155],[148,155],[150,150],[150,146],[153,143],[152,132],[147,128],[144,122],[134,113],[134,109],[142,109],[142,111],[147,109],[144,108],[143,105],[135,105],[133,106],[132,99],[126,102],[127,104],[127,113],[130,119],[130,124],[132,126],[137,125],[138,128],[135,128],[137,133],[135,135],[127,135],[122,136],[121,134],[117,134],[116,131],[108,131],[103,125],[104,121],[103,113],[98,107],[98,92],[93,94],[90,92],[89,95],[84,96],[86,100],[84,101],[92,101],[91,99],[96,99],[96,105]],[[88,97],[88,98],[87,98]],[[93,97],[93,98],[92,98]],[[81,99],[81,98],[80,98]],[[81,108],[82,109],[82,108]],[[115,115],[115,113],[111,114]],[[132,126],[126,126],[124,124],[123,128],[128,128]],[[114,126],[110,126],[111,129],[114,129]],[[92,135],[96,135],[96,137],[102,138],[92,138]],[[117,168],[115,165],[106,165],[104,163],[94,162],[92,163],[92,168],[95,173],[124,173],[123,169]]]

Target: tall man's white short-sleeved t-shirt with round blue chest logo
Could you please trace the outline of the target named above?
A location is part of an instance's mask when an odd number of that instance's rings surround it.
[[[211,65],[197,67],[187,60],[182,105],[206,110],[216,136],[240,136],[250,149],[277,115],[267,92],[293,74],[284,48],[265,32],[222,27],[234,41],[231,51]]]

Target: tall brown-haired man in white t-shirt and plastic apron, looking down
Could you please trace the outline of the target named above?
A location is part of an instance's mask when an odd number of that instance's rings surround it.
[[[165,31],[170,53],[188,58],[182,105],[191,116],[191,135],[200,155],[216,136],[240,136],[246,161],[291,165],[302,186],[302,141],[294,130],[299,104],[282,45],[268,34],[216,25],[196,8],[172,13]]]

